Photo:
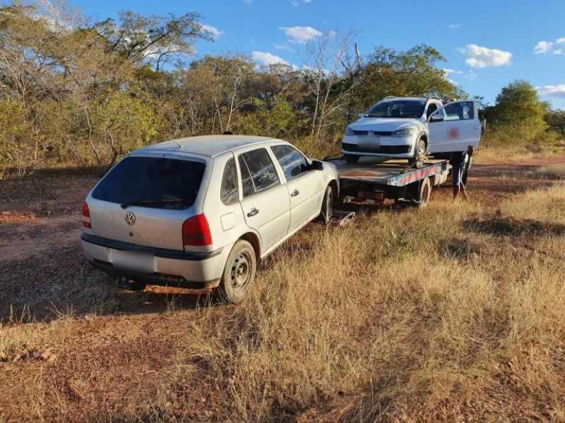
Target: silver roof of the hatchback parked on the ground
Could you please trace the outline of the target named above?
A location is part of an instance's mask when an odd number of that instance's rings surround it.
[[[252,137],[249,135],[201,135],[198,137],[179,138],[178,140],[148,145],[147,147],[136,150],[136,152],[187,153],[214,157],[230,150],[267,141],[273,141],[273,138]]]

